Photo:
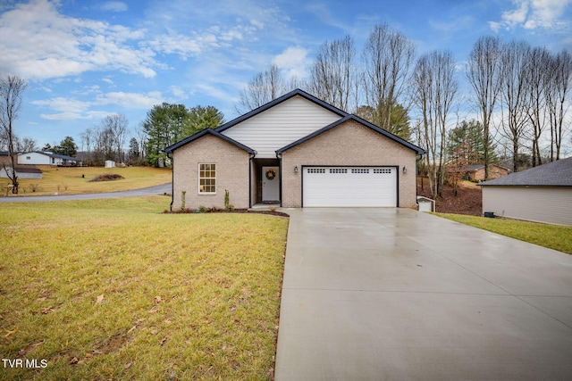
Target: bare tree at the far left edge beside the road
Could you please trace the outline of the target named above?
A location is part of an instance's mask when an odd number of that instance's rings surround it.
[[[0,77],[0,134],[8,145],[11,168],[8,170],[4,164],[4,171],[12,181],[12,193],[18,194],[18,175],[16,173],[16,161],[14,159],[15,135],[13,122],[20,112],[21,98],[28,84],[24,79],[7,75]]]

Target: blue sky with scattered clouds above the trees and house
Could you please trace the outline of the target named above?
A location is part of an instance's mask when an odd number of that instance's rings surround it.
[[[378,23],[417,54],[449,49],[459,68],[489,34],[572,50],[572,0],[0,0],[0,73],[29,82],[20,137],[80,145],[106,115],[135,129],[162,102],[231,120],[257,72],[275,63],[304,79],[325,40],[350,35],[360,50]]]

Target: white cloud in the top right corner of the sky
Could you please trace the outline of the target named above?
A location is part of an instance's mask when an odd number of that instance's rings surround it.
[[[514,9],[502,12],[501,21],[489,21],[495,32],[500,29],[554,29],[563,21],[560,17],[566,12],[572,0],[513,0]],[[569,21],[568,21],[569,22]]]

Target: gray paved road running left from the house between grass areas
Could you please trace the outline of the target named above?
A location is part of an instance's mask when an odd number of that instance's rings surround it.
[[[147,188],[133,189],[129,191],[96,193],[88,195],[30,195],[0,197],[0,203],[30,203],[44,201],[91,200],[95,198],[135,197],[139,195],[164,195],[170,194],[171,191],[171,183],[168,183],[160,186],[149,186]]]

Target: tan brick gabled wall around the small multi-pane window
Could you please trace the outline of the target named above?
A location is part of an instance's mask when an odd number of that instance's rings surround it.
[[[172,210],[181,209],[182,191],[185,208],[199,206],[224,208],[224,191],[229,191],[235,208],[248,208],[248,172],[250,154],[221,138],[206,135],[183,145],[173,153]],[[198,163],[216,164],[216,194],[198,193]]]

